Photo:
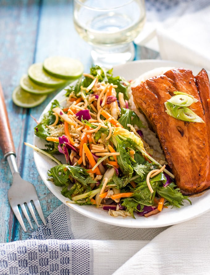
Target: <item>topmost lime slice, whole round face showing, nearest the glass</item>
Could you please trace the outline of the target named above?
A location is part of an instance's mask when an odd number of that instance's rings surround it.
[[[46,58],[43,67],[50,75],[63,79],[79,78],[84,70],[79,60],[63,56]]]

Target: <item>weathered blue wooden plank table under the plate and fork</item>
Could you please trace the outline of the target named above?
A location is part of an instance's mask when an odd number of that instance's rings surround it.
[[[140,59],[144,49],[142,52],[138,48],[136,50],[136,59]],[[149,58],[154,57],[147,50],[145,54]],[[49,95],[40,106],[32,109],[15,106],[11,95],[31,64],[43,62],[45,58],[53,55],[78,59],[84,64],[85,71],[89,72],[90,46],[78,36],[73,27],[73,1],[0,0],[0,81],[20,173],[23,179],[35,185],[45,218],[61,202],[44,185],[36,170],[33,151],[26,147],[24,142],[33,143],[33,128],[36,122],[31,116],[38,119],[55,93]],[[0,175],[0,242],[27,239],[31,230],[28,226],[27,233],[23,233],[7,199],[12,176],[1,150]]]

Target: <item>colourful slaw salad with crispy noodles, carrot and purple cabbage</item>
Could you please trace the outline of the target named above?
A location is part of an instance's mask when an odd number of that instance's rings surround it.
[[[176,188],[167,163],[150,154],[144,126],[129,109],[130,85],[112,69],[93,66],[66,88],[65,106],[54,100],[34,129],[47,141],[42,153],[65,156],[63,164],[51,157],[58,165],[48,177],[68,202],[135,218],[135,213],[150,216],[190,200]]]

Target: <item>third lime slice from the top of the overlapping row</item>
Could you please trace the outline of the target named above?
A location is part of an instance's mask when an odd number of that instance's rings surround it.
[[[32,93],[32,94],[49,94],[55,91],[55,88],[46,88],[40,85],[37,85],[25,74],[20,78],[20,86],[23,90]]]

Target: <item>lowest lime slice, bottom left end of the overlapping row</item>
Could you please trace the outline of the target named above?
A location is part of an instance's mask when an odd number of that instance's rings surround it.
[[[13,102],[23,108],[32,108],[41,104],[47,95],[36,95],[24,91],[20,86],[17,86],[12,93]]]

